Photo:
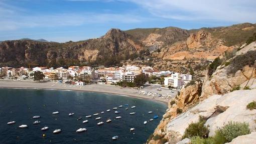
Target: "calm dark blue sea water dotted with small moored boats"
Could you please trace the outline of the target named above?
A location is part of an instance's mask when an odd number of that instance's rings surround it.
[[[119,108],[118,105],[129,104]],[[131,106],[136,108],[132,109]],[[119,114],[115,114],[113,107],[118,107]],[[1,89],[0,88],[0,143],[145,143],[150,134],[158,125],[167,106],[163,103],[131,98],[120,95],[111,95],[95,92],[77,92],[44,89]],[[106,112],[111,109],[110,112]],[[57,115],[52,112],[59,111]],[[101,120],[95,117],[85,118],[93,113],[103,114]],[[149,114],[148,111],[154,113]],[[68,113],[74,112],[73,116]],[[136,112],[130,115],[130,112]],[[33,116],[40,115],[40,124],[33,125]],[[158,119],[145,120],[158,115]],[[77,120],[82,116],[81,120]],[[115,119],[121,116],[120,119]],[[112,122],[106,123],[107,118]],[[88,119],[88,123],[82,123]],[[7,122],[15,120],[16,123],[8,125]],[[97,122],[104,121],[103,125]],[[28,128],[19,128],[21,124],[27,124]],[[49,130],[41,131],[47,125]],[[80,127],[87,131],[77,133]],[[135,127],[133,132],[130,128]],[[62,132],[53,134],[54,129],[61,128]],[[43,137],[43,134],[46,134]],[[117,140],[112,136],[118,135]]]

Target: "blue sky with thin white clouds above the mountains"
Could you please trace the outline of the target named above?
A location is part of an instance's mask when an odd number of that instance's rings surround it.
[[[0,0],[0,41],[80,41],[111,28],[254,24],[255,7],[255,0]]]

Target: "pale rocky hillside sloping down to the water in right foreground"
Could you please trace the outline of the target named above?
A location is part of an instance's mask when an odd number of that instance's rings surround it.
[[[255,60],[256,43],[252,42],[246,47],[241,47],[232,58],[223,61],[203,83],[198,81],[183,88],[180,94],[169,102],[167,112],[147,143],[179,142],[185,138],[189,125],[198,122],[200,116],[204,117],[204,125],[208,129],[206,137],[214,137],[216,130],[228,121],[246,122],[251,132],[234,138],[230,143],[244,143],[243,140],[253,137],[256,110],[249,110],[246,106],[256,101]],[[189,141],[189,138],[185,138],[180,143]],[[255,142],[256,139],[252,143]]]

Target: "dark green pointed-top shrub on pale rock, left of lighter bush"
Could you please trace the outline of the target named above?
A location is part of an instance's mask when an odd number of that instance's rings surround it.
[[[209,129],[204,126],[205,122],[206,120],[204,117],[200,116],[198,122],[190,123],[184,132],[183,138],[192,138],[193,136],[199,136],[202,138],[208,137]]]

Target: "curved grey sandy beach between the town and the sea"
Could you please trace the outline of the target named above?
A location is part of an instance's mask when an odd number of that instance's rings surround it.
[[[165,97],[157,97],[140,94],[135,88],[122,88],[114,85],[107,84],[90,84],[84,86],[67,85],[57,82],[34,82],[34,81],[9,81],[1,80],[0,88],[42,88],[42,89],[59,89],[59,90],[76,90],[76,91],[91,91],[102,92],[118,95],[126,95],[135,98],[143,98],[148,100],[155,100],[168,104],[169,99]]]

